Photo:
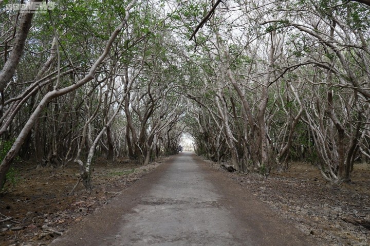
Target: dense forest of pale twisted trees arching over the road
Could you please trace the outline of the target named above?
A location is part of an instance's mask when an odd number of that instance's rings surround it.
[[[367,0],[12,3],[0,1],[1,186],[27,160],[76,165],[89,188],[96,157],[146,165],[183,133],[198,155],[263,175],[306,161],[350,182],[370,160]]]

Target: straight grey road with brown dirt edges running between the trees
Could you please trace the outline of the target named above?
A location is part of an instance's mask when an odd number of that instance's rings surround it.
[[[170,158],[50,245],[315,245],[193,153]]]

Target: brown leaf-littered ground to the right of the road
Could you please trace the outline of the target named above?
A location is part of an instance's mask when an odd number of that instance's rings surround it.
[[[267,178],[208,163],[324,245],[370,245],[370,164],[354,165],[351,184],[334,184],[309,163]]]

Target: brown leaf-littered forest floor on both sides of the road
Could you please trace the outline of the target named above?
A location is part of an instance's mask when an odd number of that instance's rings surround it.
[[[0,244],[47,245],[159,165],[139,166],[128,160],[118,160],[114,165],[104,159],[96,162],[94,189],[86,191],[79,184],[73,195],[69,193],[78,181],[74,164],[63,169],[17,164],[21,181],[13,191],[0,196],[0,221],[12,217],[0,223]],[[316,167],[308,163],[292,163],[288,172],[271,173],[268,178],[229,173],[216,163],[207,163],[325,245],[370,244],[366,225],[370,221],[369,164],[355,164],[353,183],[339,185],[323,180]]]

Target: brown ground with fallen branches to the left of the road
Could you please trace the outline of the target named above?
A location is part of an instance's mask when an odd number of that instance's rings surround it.
[[[79,168],[36,169],[33,163],[14,165],[20,180],[13,190],[0,194],[0,245],[47,245],[71,225],[104,206],[122,190],[162,161],[146,166],[119,159],[107,164],[97,159],[94,166],[93,190],[79,180]]]

